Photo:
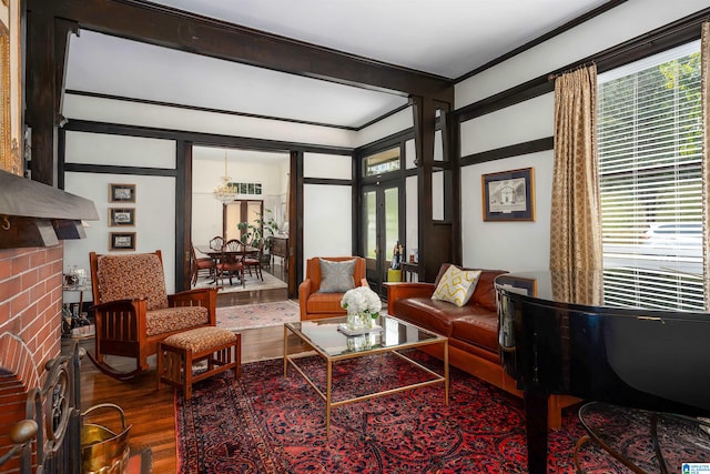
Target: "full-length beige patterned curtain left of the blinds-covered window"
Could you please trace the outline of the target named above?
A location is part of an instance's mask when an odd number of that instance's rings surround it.
[[[555,293],[581,304],[599,303],[602,266],[597,67],[590,65],[555,81],[550,218],[550,270],[558,282]]]

